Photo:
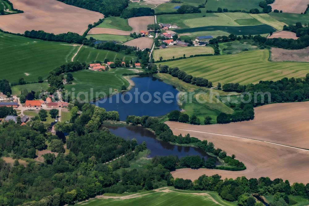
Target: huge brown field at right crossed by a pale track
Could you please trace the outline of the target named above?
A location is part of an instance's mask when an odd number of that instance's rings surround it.
[[[198,139],[213,142],[216,148],[225,150],[228,155],[235,154],[247,167],[243,171],[186,168],[171,173],[174,178],[192,180],[202,174],[219,174],[222,178],[264,176],[288,179],[290,183],[307,183],[309,150],[305,149],[309,149],[308,106],[309,102],[264,105],[255,108],[254,120],[226,125],[195,126],[166,122],[175,135],[189,133]]]

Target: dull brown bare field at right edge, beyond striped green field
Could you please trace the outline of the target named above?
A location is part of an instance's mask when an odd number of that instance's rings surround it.
[[[271,61],[309,62],[309,47],[307,47],[306,49],[295,49],[295,50],[271,48]]]

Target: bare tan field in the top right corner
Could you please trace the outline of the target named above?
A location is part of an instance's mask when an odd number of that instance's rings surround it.
[[[306,11],[309,0],[276,0],[269,4],[273,10],[282,10],[283,13],[301,14]]]

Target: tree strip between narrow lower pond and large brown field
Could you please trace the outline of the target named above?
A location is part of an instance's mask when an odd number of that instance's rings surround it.
[[[205,152],[209,152],[214,154],[215,156],[219,157],[220,159],[225,158],[225,163],[230,166],[228,170],[245,170],[246,167],[242,162],[239,162],[238,160],[235,160],[235,155],[233,155],[231,158],[226,158],[229,156],[226,156],[226,152],[222,151],[222,149],[214,148],[214,144],[211,142],[208,142],[207,140],[199,140],[197,138],[190,137],[189,134],[187,134],[185,137],[182,135],[176,136],[173,135],[173,132],[171,129],[167,126],[165,123],[160,123],[159,119],[156,117],[149,117],[149,116],[128,116],[126,123],[132,123],[133,125],[141,125],[145,128],[150,128],[155,132],[155,135],[164,141],[172,142],[176,144],[191,144],[194,147],[200,148]],[[201,165],[203,166],[203,165]],[[217,167],[216,167],[217,168]],[[217,169],[226,169],[227,167],[218,167]]]

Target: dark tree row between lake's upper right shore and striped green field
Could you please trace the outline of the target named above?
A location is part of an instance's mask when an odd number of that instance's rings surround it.
[[[192,75],[188,75],[186,72],[179,70],[178,67],[169,67],[167,65],[159,65],[160,73],[170,74],[173,77],[177,77],[178,79],[189,83],[195,84],[200,87],[212,87],[212,82],[208,81],[208,79],[202,77],[193,77]]]

